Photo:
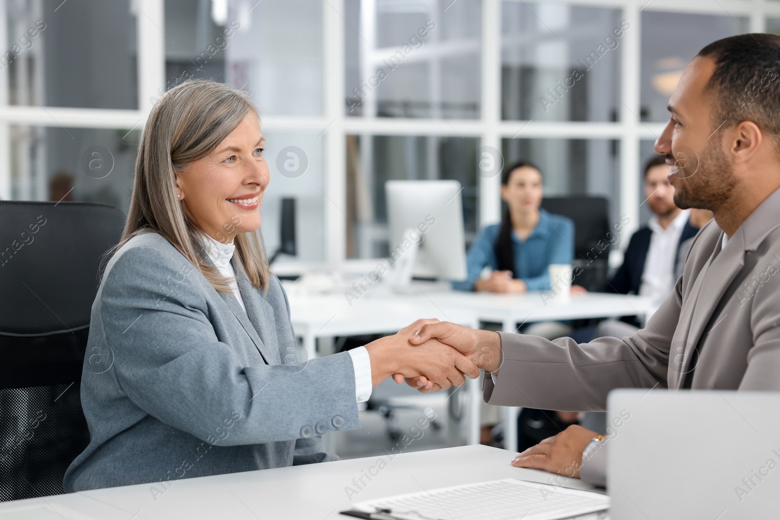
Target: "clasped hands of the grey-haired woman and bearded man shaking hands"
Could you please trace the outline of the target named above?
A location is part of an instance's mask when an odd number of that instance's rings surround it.
[[[420,391],[462,386],[480,369],[497,373],[502,362],[497,332],[439,320],[417,320],[397,334],[365,345],[373,386],[391,377]]]

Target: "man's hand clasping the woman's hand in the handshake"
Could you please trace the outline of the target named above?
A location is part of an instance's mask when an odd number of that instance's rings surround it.
[[[449,321],[436,321],[422,324],[417,334],[413,334],[409,341],[413,345],[420,345],[431,341],[431,339],[437,339],[441,343],[455,348],[477,368],[498,373],[498,369],[501,367],[501,337],[498,332],[471,329],[463,327],[463,325],[449,323]],[[396,383],[402,383],[404,377],[400,373],[395,373],[393,380]],[[425,377],[406,377],[406,384],[422,392],[437,391],[439,388],[435,383],[436,381]]]

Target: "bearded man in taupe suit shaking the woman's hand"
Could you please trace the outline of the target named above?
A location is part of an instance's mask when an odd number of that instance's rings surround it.
[[[644,329],[578,345],[438,323],[415,341],[438,338],[493,373],[484,384],[491,405],[604,410],[619,387],[780,390],[778,71],[780,37],[771,34],[716,41],[686,67],[655,150],[672,168],[675,204],[712,210],[714,221]],[[512,464],[567,476],[581,466],[583,479],[603,484],[595,435],[569,426]],[[586,447],[595,454],[583,464]]]

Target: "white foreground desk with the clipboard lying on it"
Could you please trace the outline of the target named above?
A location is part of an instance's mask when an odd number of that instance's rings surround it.
[[[549,473],[513,468],[515,452],[487,446],[460,446],[402,453],[372,477],[353,502],[397,493],[508,477],[548,483]],[[144,520],[183,518],[274,518],[339,520],[349,509],[346,487],[377,465],[380,457],[356,458],[289,468],[182,479],[154,500],[150,484],[69,493],[0,503],[0,520]],[[117,468],[116,471],[122,471]],[[376,471],[373,471],[374,473]],[[564,479],[565,480],[565,479]],[[592,489],[577,479],[566,486]],[[362,487],[362,486],[361,486]],[[27,515],[24,514],[27,509]],[[20,511],[21,510],[21,511]]]

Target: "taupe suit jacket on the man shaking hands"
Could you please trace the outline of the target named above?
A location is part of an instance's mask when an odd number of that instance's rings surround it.
[[[675,291],[630,338],[501,333],[504,361],[495,385],[485,378],[485,401],[588,411],[621,387],[780,390],[780,189],[722,248],[723,235],[714,221],[701,229]]]

